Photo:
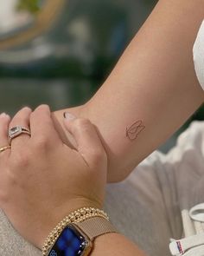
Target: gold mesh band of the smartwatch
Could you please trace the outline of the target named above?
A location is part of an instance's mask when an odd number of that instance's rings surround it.
[[[118,233],[117,229],[112,226],[109,220],[103,217],[94,217],[79,223],[74,223],[90,240],[105,233]]]

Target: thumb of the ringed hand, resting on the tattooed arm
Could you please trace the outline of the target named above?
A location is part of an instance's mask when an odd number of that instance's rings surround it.
[[[96,165],[99,161],[106,161],[105,148],[103,147],[96,128],[91,121],[76,118],[70,113],[65,113],[65,128],[77,143],[77,151],[83,156],[89,166]]]

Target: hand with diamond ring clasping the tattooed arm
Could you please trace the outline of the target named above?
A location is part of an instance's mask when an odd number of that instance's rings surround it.
[[[9,118],[0,121],[0,141],[8,144]],[[77,142],[68,148],[56,130],[48,106],[33,113],[23,108],[10,122],[30,128],[0,154],[0,207],[22,236],[41,247],[68,213],[80,207],[102,207],[107,159],[90,121],[65,120]]]

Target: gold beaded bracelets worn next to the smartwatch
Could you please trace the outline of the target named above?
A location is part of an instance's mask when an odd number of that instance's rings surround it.
[[[49,233],[48,238],[45,240],[44,245],[42,246],[42,255],[47,256],[49,248],[54,245],[55,241],[60,236],[62,230],[67,225],[71,223],[80,223],[84,220],[88,220],[93,217],[101,217],[104,218],[105,220],[109,220],[107,213],[105,213],[103,210],[92,207],[83,207],[67,215],[54,228],[54,230],[51,233]]]

